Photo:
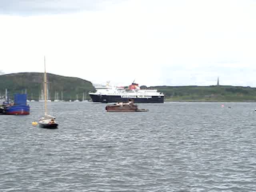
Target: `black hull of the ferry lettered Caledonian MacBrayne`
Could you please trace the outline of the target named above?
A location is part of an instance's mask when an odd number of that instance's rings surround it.
[[[135,103],[163,103],[164,96],[149,96],[149,97],[123,97],[121,95],[95,95],[90,94],[92,102],[101,102],[101,103],[116,103],[116,102],[128,102],[133,100]]]

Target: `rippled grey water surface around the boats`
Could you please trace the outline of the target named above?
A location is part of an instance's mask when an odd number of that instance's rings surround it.
[[[30,103],[28,116],[0,116],[0,191],[256,191],[256,104],[221,104],[52,102],[48,130]]]

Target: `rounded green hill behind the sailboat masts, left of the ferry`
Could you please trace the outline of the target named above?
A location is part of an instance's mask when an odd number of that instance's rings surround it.
[[[28,94],[28,99],[38,100],[43,89],[44,73],[15,73],[0,75],[0,93],[3,95],[5,89],[8,89],[10,98],[14,93]],[[86,81],[75,77],[65,77],[55,74],[47,74],[47,81],[49,86],[50,98],[54,100],[55,92],[58,92],[59,99],[61,99],[61,92],[63,92],[64,100],[82,100],[83,93],[86,94],[85,99],[90,99],[89,91],[94,91],[94,87],[90,81]]]

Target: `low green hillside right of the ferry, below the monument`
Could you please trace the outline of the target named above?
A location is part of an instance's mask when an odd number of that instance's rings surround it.
[[[166,101],[256,102],[256,88],[241,86],[157,86]]]

